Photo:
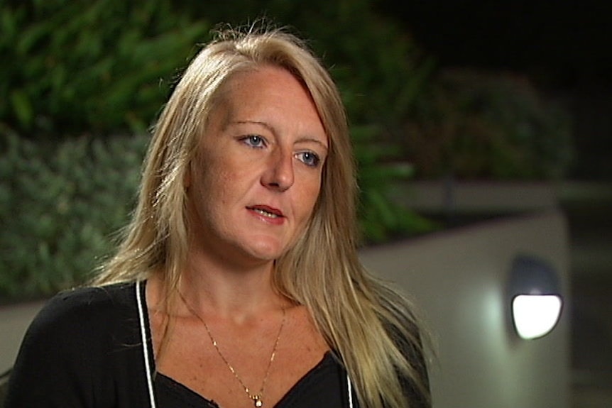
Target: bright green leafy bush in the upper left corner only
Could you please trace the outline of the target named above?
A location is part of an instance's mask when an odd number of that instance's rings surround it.
[[[143,131],[160,81],[208,31],[170,0],[1,4],[0,123],[37,138]]]

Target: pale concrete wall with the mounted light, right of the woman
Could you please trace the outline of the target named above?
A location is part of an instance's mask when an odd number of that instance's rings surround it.
[[[362,251],[430,324],[436,408],[569,407],[567,304],[554,331],[524,341],[511,331],[504,292],[513,257],[530,253],[557,268],[568,299],[568,246],[564,217],[552,211]]]

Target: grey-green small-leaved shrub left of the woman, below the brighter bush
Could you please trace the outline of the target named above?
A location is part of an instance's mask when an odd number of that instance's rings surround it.
[[[0,297],[51,294],[87,277],[126,224],[147,139],[5,135]]]

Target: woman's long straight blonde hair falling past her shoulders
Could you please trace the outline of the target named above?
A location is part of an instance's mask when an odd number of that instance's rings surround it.
[[[429,390],[408,302],[364,269],[357,253],[356,170],[344,106],[316,57],[280,30],[224,31],[192,60],[155,126],[138,205],[97,285],[162,274],[170,299],[187,258],[183,180],[223,85],[237,72],[283,67],[309,90],[329,138],[322,187],[307,231],[276,260],[273,286],[309,309],[337,351],[364,407],[410,407]],[[405,395],[404,380],[414,388]]]

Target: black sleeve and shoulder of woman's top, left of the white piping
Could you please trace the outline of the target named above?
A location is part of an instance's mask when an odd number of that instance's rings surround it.
[[[53,297],[21,343],[6,408],[150,407],[134,285]]]

